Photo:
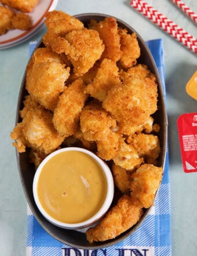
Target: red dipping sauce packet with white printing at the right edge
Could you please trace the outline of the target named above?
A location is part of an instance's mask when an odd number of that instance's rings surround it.
[[[197,172],[197,113],[184,113],[177,119],[184,172]]]

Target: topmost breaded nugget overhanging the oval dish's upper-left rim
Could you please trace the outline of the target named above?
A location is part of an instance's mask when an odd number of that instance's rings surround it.
[[[48,12],[45,24],[48,31],[43,36],[43,43],[59,54],[68,47],[68,41],[64,38],[65,35],[72,30],[81,30],[84,27],[80,20],[60,10]]]

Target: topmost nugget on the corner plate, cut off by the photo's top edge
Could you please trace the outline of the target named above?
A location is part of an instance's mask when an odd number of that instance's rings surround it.
[[[38,0],[0,0],[0,2],[10,8],[20,10],[20,12],[31,12]]]

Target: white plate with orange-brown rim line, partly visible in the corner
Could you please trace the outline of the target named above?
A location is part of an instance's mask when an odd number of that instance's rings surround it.
[[[32,27],[29,30],[9,30],[6,34],[0,35],[0,49],[12,47],[32,37],[42,26],[46,12],[56,8],[58,0],[39,0],[32,12],[28,13],[32,19]],[[1,4],[0,4],[1,5]]]

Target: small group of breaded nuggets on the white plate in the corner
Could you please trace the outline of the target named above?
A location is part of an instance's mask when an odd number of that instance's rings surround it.
[[[0,35],[9,30],[28,30],[32,27],[30,13],[38,0],[0,0]]]

